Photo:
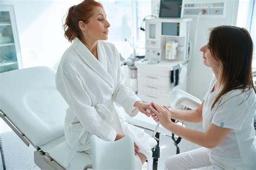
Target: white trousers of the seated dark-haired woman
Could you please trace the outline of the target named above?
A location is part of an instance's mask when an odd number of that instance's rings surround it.
[[[204,168],[202,168],[204,167]],[[213,169],[206,148],[198,148],[192,151],[173,155],[165,159],[165,169]]]

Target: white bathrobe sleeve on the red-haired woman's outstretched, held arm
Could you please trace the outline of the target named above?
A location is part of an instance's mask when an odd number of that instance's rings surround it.
[[[117,104],[121,105],[125,112],[131,117],[134,117],[138,113],[138,109],[134,106],[136,101],[141,101],[138,96],[129,88],[124,86],[124,73],[120,66],[119,53],[114,46],[114,57],[117,59],[117,82],[114,89],[113,100]]]

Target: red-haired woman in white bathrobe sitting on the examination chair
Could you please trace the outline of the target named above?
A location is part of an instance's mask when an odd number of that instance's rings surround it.
[[[72,148],[65,166],[75,152],[91,154],[91,134],[106,141],[115,141],[129,134],[134,140],[137,167],[147,159],[151,163],[157,142],[143,130],[127,124],[114,103],[131,117],[146,112],[131,89],[122,84],[119,53],[107,39],[109,22],[103,6],[85,0],[71,6],[64,24],[65,37],[72,45],[65,51],[57,73],[56,86],[69,105],[65,117],[65,138]]]

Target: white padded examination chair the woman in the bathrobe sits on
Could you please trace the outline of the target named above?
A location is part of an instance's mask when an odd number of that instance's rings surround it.
[[[77,152],[69,167],[63,166],[70,152],[65,142],[64,118],[68,105],[56,89],[55,71],[48,67],[32,67],[0,74],[0,117],[21,138],[27,146],[35,147],[35,164],[41,169],[86,169],[91,167],[92,159],[85,152]],[[93,161],[96,167],[109,169],[116,167],[118,147],[127,155],[119,154],[121,159],[132,166],[134,161],[133,142],[129,137],[118,142],[104,142],[93,138]],[[99,145],[99,146],[98,146]],[[102,147],[111,146],[110,147]],[[122,148],[124,147],[124,148]],[[126,151],[126,148],[127,151]],[[133,159],[131,158],[133,156]],[[22,155],[21,155],[22,157]],[[86,166],[87,165],[87,166]]]

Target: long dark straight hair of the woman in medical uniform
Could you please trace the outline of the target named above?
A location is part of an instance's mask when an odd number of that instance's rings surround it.
[[[223,65],[221,90],[212,108],[225,93],[242,89],[242,92],[252,88],[252,53],[253,42],[250,33],[236,26],[217,26],[211,29],[208,42],[211,55]]]

